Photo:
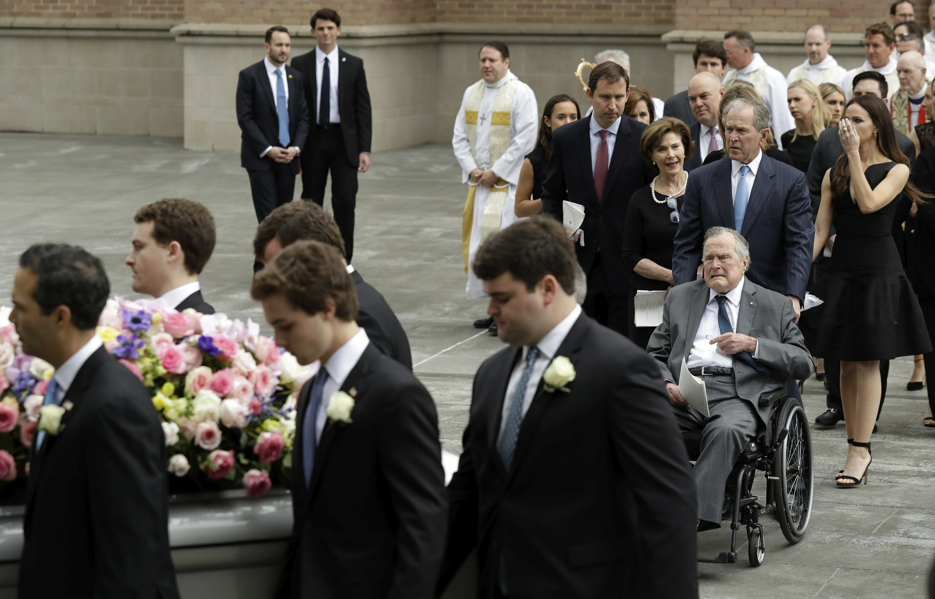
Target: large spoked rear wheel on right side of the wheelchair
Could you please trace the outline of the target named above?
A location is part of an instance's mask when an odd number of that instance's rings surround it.
[[[773,456],[772,497],[776,502],[776,519],[785,540],[793,545],[805,535],[812,517],[814,470],[812,434],[805,410],[795,400],[787,400],[776,420],[777,430],[788,431]]]

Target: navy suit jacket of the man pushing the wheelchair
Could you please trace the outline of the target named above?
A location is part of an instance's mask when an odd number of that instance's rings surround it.
[[[676,285],[695,280],[705,231],[715,226],[734,228],[731,162],[701,166],[688,178],[672,256]],[[750,243],[747,277],[771,291],[803,300],[812,267],[814,224],[801,171],[763,156],[741,235]]]

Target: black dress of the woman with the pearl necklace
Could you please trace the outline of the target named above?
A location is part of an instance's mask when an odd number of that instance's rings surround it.
[[[665,201],[666,196],[662,193],[656,193],[655,199]],[[684,194],[677,199],[679,209],[682,208],[683,199]],[[628,269],[632,271],[640,260],[647,258],[655,264],[671,270],[675,232],[679,228],[679,224],[672,222],[669,218],[671,213],[672,208],[666,204],[656,204],[653,201],[653,192],[649,185],[633,193],[633,196],[630,197],[630,205],[626,209],[626,226],[624,228],[623,257],[624,264]],[[633,341],[642,349],[645,349],[649,343],[654,328],[651,326],[636,326],[634,323],[633,298],[636,296],[637,290],[665,291],[667,289],[669,289],[669,283],[664,280],[645,278],[636,272],[630,273],[627,308],[629,329],[627,330],[627,336],[630,341]]]

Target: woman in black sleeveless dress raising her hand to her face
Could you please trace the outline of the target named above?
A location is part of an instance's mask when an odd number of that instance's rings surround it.
[[[813,257],[837,238],[827,274],[813,294],[824,304],[802,312],[812,353],[841,361],[841,405],[847,461],[841,488],[855,487],[870,467],[870,434],[880,405],[880,361],[932,349],[913,287],[893,241],[899,193],[924,203],[909,181],[909,159],[899,150],[883,100],[865,94],[848,102],[839,124],[844,154],[822,181]]]

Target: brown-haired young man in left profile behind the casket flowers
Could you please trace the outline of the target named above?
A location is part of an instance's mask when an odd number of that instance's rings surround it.
[[[198,281],[216,238],[209,209],[192,200],[168,198],[139,208],[133,220],[133,249],[123,261],[133,271],[133,291],[179,311],[193,308],[214,314]]]

